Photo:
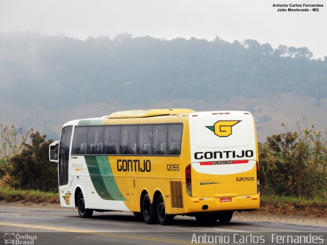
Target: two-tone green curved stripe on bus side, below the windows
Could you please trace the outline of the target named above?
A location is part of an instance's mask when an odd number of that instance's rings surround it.
[[[104,200],[126,200],[113,177],[107,156],[84,156],[93,186]]]

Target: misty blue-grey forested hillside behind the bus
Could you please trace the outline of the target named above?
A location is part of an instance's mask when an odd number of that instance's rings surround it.
[[[78,117],[152,107],[250,110],[261,139],[278,132],[269,123],[302,116],[326,130],[327,59],[306,47],[10,32],[0,54],[0,122],[49,136]]]

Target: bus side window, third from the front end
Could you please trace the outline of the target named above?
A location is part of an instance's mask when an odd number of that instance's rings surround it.
[[[120,126],[106,126],[104,130],[104,154],[118,154]]]

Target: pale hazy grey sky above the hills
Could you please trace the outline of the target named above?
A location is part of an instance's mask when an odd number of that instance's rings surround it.
[[[273,4],[323,4],[319,12],[277,12]],[[312,8],[309,8],[312,9]],[[216,36],[306,46],[327,56],[326,0],[0,0],[0,32],[11,30],[79,39],[130,33],[172,39]]]

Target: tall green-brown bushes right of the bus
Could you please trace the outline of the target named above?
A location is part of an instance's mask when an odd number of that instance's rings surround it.
[[[326,198],[326,146],[314,126],[267,137],[267,142],[259,143],[262,193]]]

